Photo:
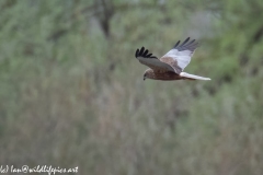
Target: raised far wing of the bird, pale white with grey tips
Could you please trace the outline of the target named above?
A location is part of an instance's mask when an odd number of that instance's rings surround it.
[[[190,37],[181,45],[179,40],[170,51],[160,58],[160,61],[170,65],[175,70],[175,73],[180,74],[190,63],[191,57],[198,46],[195,39],[190,42]]]

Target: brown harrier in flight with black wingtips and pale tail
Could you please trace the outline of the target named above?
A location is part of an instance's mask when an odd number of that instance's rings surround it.
[[[145,71],[144,80],[210,80],[209,78],[183,72],[197,47],[198,43],[195,42],[195,39],[190,42],[190,37],[187,37],[181,45],[179,40],[174,47],[160,59],[150,54],[145,47],[137,49],[135,57],[140,63],[150,68]]]

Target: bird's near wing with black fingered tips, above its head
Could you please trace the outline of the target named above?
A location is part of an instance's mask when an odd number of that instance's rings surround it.
[[[135,52],[135,57],[140,61],[140,63],[148,66],[153,71],[174,72],[174,69],[170,65],[160,61],[156,56],[152,56],[152,54],[150,54],[148,49],[145,49],[145,47],[137,49]]]

